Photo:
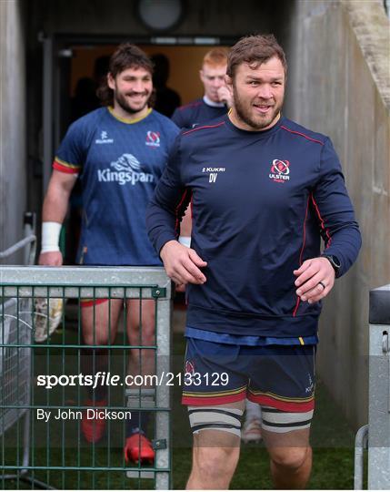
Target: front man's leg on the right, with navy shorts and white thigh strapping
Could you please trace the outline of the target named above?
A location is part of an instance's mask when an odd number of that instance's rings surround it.
[[[315,347],[262,347],[249,398],[262,405],[262,435],[276,488],[304,488],[311,472]]]

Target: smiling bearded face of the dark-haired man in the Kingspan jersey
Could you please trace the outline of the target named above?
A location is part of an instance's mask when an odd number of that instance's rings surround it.
[[[152,95],[152,74],[143,67],[126,68],[113,77],[108,74],[108,87],[114,90],[114,111],[124,118],[141,118]]]

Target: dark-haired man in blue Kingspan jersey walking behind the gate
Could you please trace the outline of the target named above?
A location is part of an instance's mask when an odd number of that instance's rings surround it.
[[[68,129],[55,156],[44,201],[41,265],[63,262],[58,238],[78,175],[84,208],[78,262],[161,265],[147,238],[145,209],[161,178],[178,128],[149,108],[152,73],[153,65],[142,50],[130,44],[119,46],[99,89],[105,107],[76,120]],[[153,301],[142,301],[140,306],[137,300],[82,300],[84,374],[108,371],[106,345],[114,343],[124,309],[129,343],[155,344]],[[101,348],[91,349],[88,345]],[[131,350],[128,371],[134,375],[153,374],[153,351]],[[107,387],[91,390],[85,405],[109,405]],[[131,421],[126,422],[126,460],[154,460],[155,452],[144,435],[146,420],[144,412],[134,412]],[[82,431],[88,442],[95,443],[105,434],[105,420],[86,419],[84,415]]]

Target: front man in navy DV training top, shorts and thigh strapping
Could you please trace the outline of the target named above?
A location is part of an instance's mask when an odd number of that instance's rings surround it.
[[[310,476],[320,301],[361,237],[330,139],[281,115],[286,69],[274,36],[233,46],[231,113],[181,132],[147,210],[166,272],[187,284],[188,488],[229,487],[246,396],[262,407],[275,487]],[[191,197],[185,248],[177,229]]]

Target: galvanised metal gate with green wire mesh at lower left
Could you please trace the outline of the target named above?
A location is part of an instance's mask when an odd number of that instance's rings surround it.
[[[0,418],[3,420],[0,422],[0,429],[5,430],[0,436],[3,488],[6,487],[4,477],[11,473],[16,476],[13,484],[16,488],[20,488],[19,477],[25,474],[29,475],[31,487],[34,487],[35,480],[39,480],[46,487],[62,489],[169,488],[171,283],[164,269],[2,266],[0,296],[3,306],[11,299],[16,303],[15,339],[6,339],[3,331],[2,353],[11,350],[16,354],[13,369],[15,380],[26,371],[28,374],[31,371],[29,404],[21,400],[21,390],[17,384],[11,397],[5,395],[4,390],[0,394]],[[23,336],[26,327],[34,335],[36,323],[36,316],[29,313],[25,306],[35,306],[39,299],[46,301],[48,317],[50,300],[61,299],[64,303],[67,302],[59,328],[53,334],[47,333],[44,343],[33,342],[34,336]],[[97,410],[95,397],[92,404],[85,404],[82,351],[102,348],[101,344],[95,342],[95,338],[94,343],[83,342],[81,300],[91,302],[94,306],[94,330],[99,323],[99,319],[95,319],[95,306],[99,302],[108,302],[108,313],[114,302],[122,306],[120,324],[124,329],[117,333],[115,340],[104,345],[108,354],[108,371],[100,374],[99,380],[99,384],[107,386],[107,403],[102,410],[107,415],[116,416],[114,419],[107,419],[105,437],[98,443],[85,441],[81,432],[82,419],[79,416],[83,412],[94,413]],[[138,301],[138,313],[131,313],[132,308],[128,307],[134,305],[129,303],[133,300]],[[150,300],[149,305],[153,303],[154,306],[154,343],[130,345],[125,333],[127,319],[137,314],[142,333],[143,302],[146,300]],[[112,328],[110,323],[109,314],[109,332]],[[31,367],[26,367],[23,354],[30,349]],[[135,378],[131,386],[126,385],[130,350],[138,351],[139,354],[148,354],[145,351],[154,354],[154,378],[149,379],[147,387],[144,381],[135,384]],[[23,433],[18,422],[8,428],[5,415],[28,410],[30,463],[25,466],[21,457]],[[126,419],[130,418],[130,414],[140,416],[146,412],[150,417],[148,436],[155,450],[155,460],[151,465],[131,464],[125,461],[123,453]]]

